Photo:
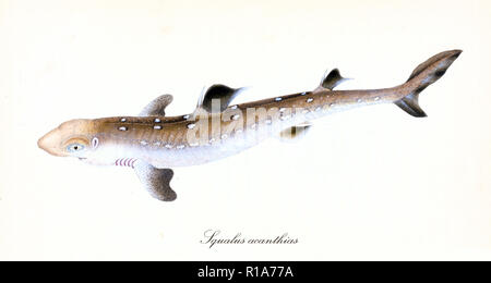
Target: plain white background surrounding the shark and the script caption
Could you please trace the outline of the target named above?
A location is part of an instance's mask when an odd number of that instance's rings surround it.
[[[491,259],[489,1],[0,1],[0,259]],[[464,53],[420,96],[314,121],[178,168],[159,202],[124,168],[56,158],[37,139],[63,121],[132,115],[204,86],[238,101],[390,87],[429,57]],[[296,245],[200,244],[203,233]]]

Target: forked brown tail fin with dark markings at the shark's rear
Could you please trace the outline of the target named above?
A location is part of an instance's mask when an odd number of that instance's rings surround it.
[[[424,111],[419,107],[418,96],[429,85],[442,77],[448,66],[458,58],[462,50],[450,50],[438,53],[419,64],[409,79],[404,84],[411,89],[409,95],[403,99],[395,101],[395,104],[400,107],[404,111],[414,116],[427,116]]]

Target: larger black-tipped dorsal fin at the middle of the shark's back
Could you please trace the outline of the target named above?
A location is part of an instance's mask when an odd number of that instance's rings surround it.
[[[242,88],[231,88],[226,85],[213,85],[206,93],[200,98],[197,102],[197,108],[204,109],[208,113],[223,112],[233,98],[242,90]],[[217,104],[219,102],[219,108],[213,108],[213,101]]]

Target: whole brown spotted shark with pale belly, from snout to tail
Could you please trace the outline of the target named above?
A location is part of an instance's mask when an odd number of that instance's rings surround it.
[[[134,170],[156,199],[177,198],[173,168],[227,158],[270,137],[297,139],[311,121],[362,106],[395,103],[408,114],[427,116],[418,97],[441,78],[462,50],[440,52],[419,64],[400,85],[380,89],[335,90],[344,78],[337,69],[313,90],[232,104],[243,88],[213,85],[192,113],[167,116],[171,95],[151,101],[139,115],[75,119],[39,138],[37,145],[57,157]]]

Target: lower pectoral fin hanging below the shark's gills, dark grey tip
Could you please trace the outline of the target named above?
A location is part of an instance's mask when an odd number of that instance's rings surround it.
[[[173,176],[171,169],[157,169],[139,160],[134,164],[134,171],[154,198],[163,201],[172,201],[177,198],[176,192],[169,184]]]

